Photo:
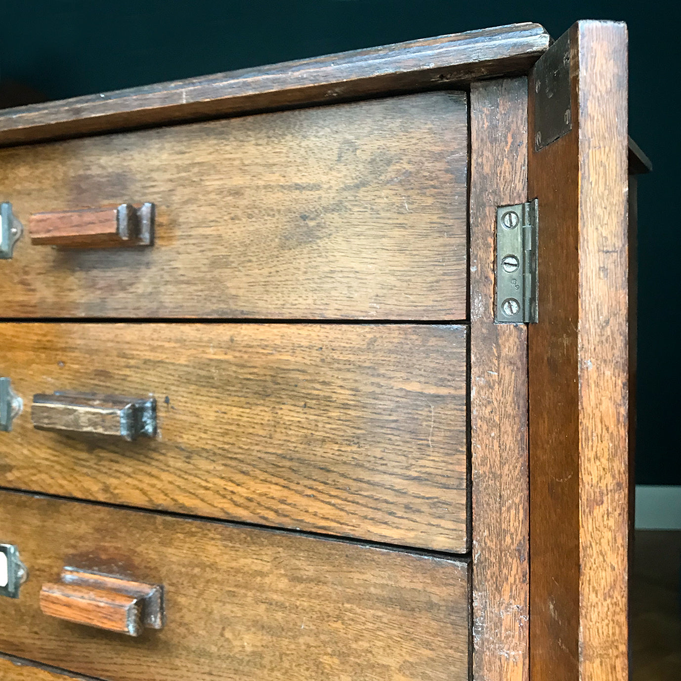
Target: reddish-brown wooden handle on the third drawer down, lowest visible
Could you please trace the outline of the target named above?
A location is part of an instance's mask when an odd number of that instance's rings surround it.
[[[43,584],[40,609],[50,617],[139,636],[162,629],[163,586],[65,567],[61,582]]]

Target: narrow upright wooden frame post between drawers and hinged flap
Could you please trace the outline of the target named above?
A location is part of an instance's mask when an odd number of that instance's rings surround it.
[[[526,201],[527,80],[471,86],[473,678],[528,678],[527,333],[494,323],[496,206]]]

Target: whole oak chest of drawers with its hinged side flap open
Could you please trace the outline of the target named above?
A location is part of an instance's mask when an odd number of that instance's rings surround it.
[[[0,113],[0,678],[626,678],[626,49]]]

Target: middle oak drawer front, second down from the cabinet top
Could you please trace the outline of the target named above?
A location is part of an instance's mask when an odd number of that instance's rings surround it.
[[[3,323],[0,486],[467,550],[466,327]],[[35,394],[157,400],[156,437],[36,430]],[[35,419],[33,407],[33,419]]]

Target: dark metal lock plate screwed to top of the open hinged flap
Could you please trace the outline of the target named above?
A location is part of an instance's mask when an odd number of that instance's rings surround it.
[[[539,58],[533,69],[533,83],[535,151],[539,151],[572,129],[569,32]]]

